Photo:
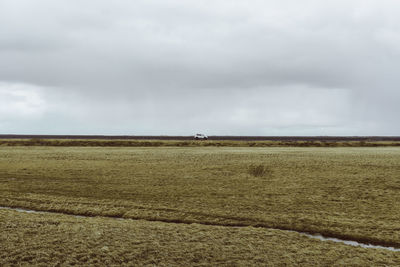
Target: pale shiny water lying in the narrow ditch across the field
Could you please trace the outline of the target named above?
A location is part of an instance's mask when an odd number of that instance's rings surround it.
[[[29,209],[21,209],[21,208],[11,208],[11,207],[0,207],[0,210],[1,209],[3,209],[3,210],[13,210],[13,211],[24,212],[24,213],[62,214],[62,215],[73,216],[75,218],[93,218],[91,216],[72,215],[72,214],[66,214],[66,213],[61,213],[61,212],[37,211],[37,210],[29,210]],[[98,217],[102,217],[102,216],[98,216]],[[113,219],[117,219],[117,220],[133,220],[133,219],[126,219],[126,218],[118,218],[118,217],[106,217],[106,218],[113,218]],[[163,221],[160,221],[160,222],[163,222]],[[174,222],[171,222],[171,223],[174,223]],[[207,225],[211,225],[211,224],[207,224]],[[215,226],[221,226],[221,225],[217,225],[216,224]],[[274,228],[268,228],[268,229],[274,229]],[[282,229],[275,229],[275,230],[298,233],[300,235],[307,236],[307,237],[313,238],[313,239],[318,239],[320,241],[332,241],[332,242],[342,243],[342,244],[355,246],[355,247],[385,249],[385,250],[390,250],[390,251],[400,251],[400,248],[389,247],[389,246],[372,245],[372,244],[361,243],[361,242],[357,242],[357,241],[353,241],[353,240],[344,240],[344,239],[334,238],[334,237],[325,237],[325,236],[322,236],[320,234],[310,234],[310,233],[294,231],[294,230],[282,230]]]

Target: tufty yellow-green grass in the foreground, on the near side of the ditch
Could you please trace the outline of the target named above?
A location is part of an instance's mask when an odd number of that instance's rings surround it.
[[[399,253],[260,228],[181,225],[0,210],[0,265],[383,266]]]

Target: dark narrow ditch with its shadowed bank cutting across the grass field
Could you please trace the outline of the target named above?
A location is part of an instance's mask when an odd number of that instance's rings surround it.
[[[207,226],[220,226],[220,227],[255,227],[255,228],[264,228],[264,229],[272,229],[272,230],[281,230],[281,231],[290,231],[296,232],[299,234],[304,234],[309,237],[320,235],[322,238],[335,238],[345,241],[352,241],[357,242],[360,245],[368,246],[379,246],[384,249],[389,250],[400,250],[400,244],[398,242],[388,242],[385,240],[379,240],[374,238],[362,237],[362,236],[352,236],[347,234],[341,234],[332,232],[329,230],[325,231],[312,231],[307,229],[296,229],[293,227],[287,226],[279,226],[279,225],[269,225],[263,222],[252,222],[252,220],[240,221],[241,218],[234,218],[231,217],[231,220],[237,220],[236,222],[211,222],[211,221],[198,221],[198,220],[186,220],[186,219],[169,219],[169,218],[151,218],[151,217],[141,217],[141,216],[115,216],[115,215],[96,215],[96,214],[82,214],[76,213],[72,211],[59,211],[58,209],[43,209],[43,210],[31,210],[26,209],[24,207],[4,207],[0,206],[0,209],[8,209],[8,210],[15,210],[19,212],[28,212],[28,213],[51,213],[51,214],[60,214],[60,215],[71,215],[76,217],[84,217],[84,218],[95,218],[95,217],[102,217],[102,218],[111,218],[111,219],[118,219],[118,220],[143,220],[148,222],[163,222],[163,223],[174,223],[174,224],[200,224],[200,225],[207,225]],[[226,219],[227,217],[223,216],[221,219]]]

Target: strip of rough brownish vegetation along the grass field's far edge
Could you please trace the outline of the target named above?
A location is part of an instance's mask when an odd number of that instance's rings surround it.
[[[82,146],[82,147],[378,147],[400,146],[400,141],[179,141],[99,139],[3,139],[0,146]]]

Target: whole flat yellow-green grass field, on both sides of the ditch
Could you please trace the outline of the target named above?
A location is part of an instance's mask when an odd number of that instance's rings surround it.
[[[52,213],[0,209],[0,265],[400,265],[287,231],[399,248],[399,192],[399,147],[2,146],[0,206]]]

